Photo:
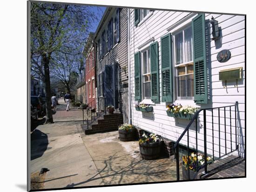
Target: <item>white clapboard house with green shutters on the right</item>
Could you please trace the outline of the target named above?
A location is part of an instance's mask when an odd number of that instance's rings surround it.
[[[129,9],[129,18],[131,122],[215,158],[243,157],[245,16]],[[171,103],[207,110],[191,122],[168,116]]]

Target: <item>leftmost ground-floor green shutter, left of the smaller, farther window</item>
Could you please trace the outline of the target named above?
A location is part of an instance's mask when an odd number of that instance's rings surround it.
[[[135,100],[141,101],[141,52],[134,55],[135,64]]]

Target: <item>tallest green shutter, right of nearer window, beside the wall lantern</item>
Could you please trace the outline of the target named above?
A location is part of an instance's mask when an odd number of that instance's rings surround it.
[[[192,20],[194,47],[194,100],[196,103],[207,103],[207,66],[205,47],[205,16],[198,14]]]

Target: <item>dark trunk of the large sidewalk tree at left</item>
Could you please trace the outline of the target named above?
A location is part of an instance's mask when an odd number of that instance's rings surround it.
[[[53,123],[53,113],[52,113],[52,105],[51,105],[51,83],[50,83],[50,71],[49,71],[49,63],[50,60],[47,58],[47,55],[44,54],[42,56],[42,64],[44,66],[44,83],[45,83],[45,98],[46,98],[46,122],[45,123]]]

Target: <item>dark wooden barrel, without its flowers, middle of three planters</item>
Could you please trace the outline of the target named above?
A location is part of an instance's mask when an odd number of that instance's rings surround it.
[[[155,160],[160,156],[162,141],[156,143],[139,143],[141,157],[144,160]]]

